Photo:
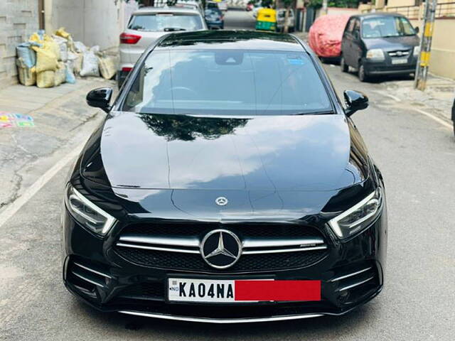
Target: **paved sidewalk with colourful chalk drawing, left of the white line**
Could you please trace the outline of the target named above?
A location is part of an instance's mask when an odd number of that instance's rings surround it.
[[[40,89],[12,85],[0,90],[0,212],[23,190],[79,146],[104,117],[85,95],[112,80],[77,79],[76,84]]]

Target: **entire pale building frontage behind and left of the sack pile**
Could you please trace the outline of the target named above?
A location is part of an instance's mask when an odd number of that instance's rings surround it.
[[[16,83],[16,45],[60,27],[85,45],[115,50],[135,0],[0,0],[0,89]]]

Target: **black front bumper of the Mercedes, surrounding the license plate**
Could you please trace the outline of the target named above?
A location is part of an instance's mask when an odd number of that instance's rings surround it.
[[[385,210],[385,209],[384,209]],[[382,212],[382,216],[386,212]],[[370,301],[384,281],[387,222],[382,216],[363,233],[340,243],[328,242],[327,255],[301,269],[251,274],[208,274],[139,266],[112,247],[115,236],[95,237],[64,213],[63,280],[85,303],[105,312],[205,323],[247,323],[343,315]],[[114,232],[114,231],[113,231]],[[328,235],[326,239],[329,241]],[[321,280],[321,301],[260,303],[170,303],[167,278]]]

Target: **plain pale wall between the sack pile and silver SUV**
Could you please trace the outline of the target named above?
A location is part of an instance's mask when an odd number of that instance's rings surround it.
[[[137,4],[120,0],[45,0],[45,30],[53,33],[61,26],[85,45],[116,48],[119,34],[128,20],[125,13]]]

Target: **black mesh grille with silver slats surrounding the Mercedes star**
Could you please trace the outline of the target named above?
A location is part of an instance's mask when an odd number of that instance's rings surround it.
[[[230,268],[214,269],[200,255],[199,243],[207,232],[220,227],[225,228],[220,224],[131,224],[122,230],[114,251],[141,266],[204,273],[298,269],[311,266],[328,254],[321,232],[314,227],[230,225],[225,229],[242,240],[242,255]]]

